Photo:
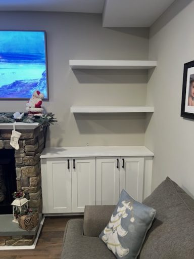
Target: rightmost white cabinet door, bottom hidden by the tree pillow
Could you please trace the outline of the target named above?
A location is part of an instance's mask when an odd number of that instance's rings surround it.
[[[143,157],[121,157],[120,159],[120,192],[125,189],[139,202],[143,197],[143,164]]]

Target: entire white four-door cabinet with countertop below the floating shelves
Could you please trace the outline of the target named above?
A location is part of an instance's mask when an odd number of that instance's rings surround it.
[[[116,204],[122,189],[141,202],[151,193],[153,156],[144,146],[45,148],[42,213],[81,213],[85,205]]]

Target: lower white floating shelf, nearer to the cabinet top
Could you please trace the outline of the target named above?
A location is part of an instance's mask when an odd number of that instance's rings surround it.
[[[154,112],[152,106],[72,106],[71,113]]]

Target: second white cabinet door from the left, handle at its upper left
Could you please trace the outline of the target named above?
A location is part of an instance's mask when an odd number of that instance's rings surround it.
[[[95,158],[72,158],[72,212],[95,205]]]

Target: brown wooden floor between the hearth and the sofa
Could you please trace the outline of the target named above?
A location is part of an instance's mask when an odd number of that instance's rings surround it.
[[[35,249],[1,250],[0,259],[60,259],[69,218],[46,217]]]

